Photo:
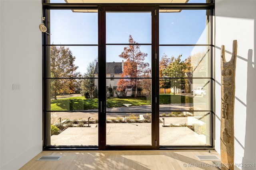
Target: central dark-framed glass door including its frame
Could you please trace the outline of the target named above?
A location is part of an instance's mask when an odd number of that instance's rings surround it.
[[[101,149],[156,149],[155,8],[102,7]]]

